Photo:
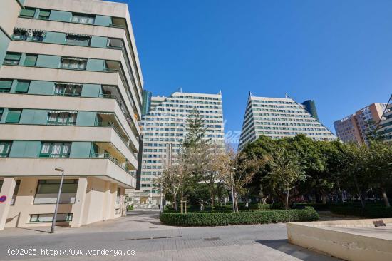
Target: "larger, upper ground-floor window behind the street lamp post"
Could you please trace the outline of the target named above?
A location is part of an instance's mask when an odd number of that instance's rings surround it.
[[[60,180],[38,180],[34,204],[56,204]],[[60,203],[75,203],[78,180],[63,180]]]

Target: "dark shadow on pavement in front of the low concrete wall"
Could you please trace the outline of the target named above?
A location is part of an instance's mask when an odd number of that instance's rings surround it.
[[[329,257],[327,255],[322,255],[318,252],[308,250],[304,247],[299,247],[297,245],[290,244],[287,240],[257,240],[256,242],[265,245],[266,247],[271,247],[274,250],[284,252],[287,255],[296,257],[300,260],[305,261],[337,261],[340,260],[336,257]]]

